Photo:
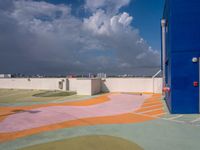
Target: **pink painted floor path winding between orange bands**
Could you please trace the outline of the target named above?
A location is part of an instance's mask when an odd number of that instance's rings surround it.
[[[141,107],[151,95],[111,94],[109,101],[91,106],[49,106],[20,112],[0,122],[0,133],[22,131],[81,118],[125,114]]]

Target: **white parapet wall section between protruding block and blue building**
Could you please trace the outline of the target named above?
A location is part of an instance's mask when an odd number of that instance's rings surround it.
[[[162,78],[105,78],[101,91],[162,93]]]

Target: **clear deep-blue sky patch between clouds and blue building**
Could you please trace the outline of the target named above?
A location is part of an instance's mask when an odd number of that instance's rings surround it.
[[[160,50],[160,19],[164,0],[134,0],[129,6],[135,16],[134,26],[140,29],[141,36],[155,49]]]

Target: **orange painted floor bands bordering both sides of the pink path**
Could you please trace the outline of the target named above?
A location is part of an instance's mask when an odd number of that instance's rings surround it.
[[[123,94],[123,93],[122,93]],[[43,104],[43,105],[32,105],[32,106],[18,106],[18,107],[1,107],[0,111],[0,120],[4,121],[8,116],[25,112],[28,110],[33,110],[36,108],[44,108],[51,106],[91,106],[100,103],[105,103],[109,101],[110,94],[105,94],[96,98],[78,101],[78,102],[65,102],[60,104]],[[160,101],[161,95],[154,94],[150,98],[146,99],[142,106],[136,111],[119,114],[115,116],[102,116],[102,117],[94,117],[94,118],[84,118],[77,119],[72,121],[66,121],[57,124],[51,124],[46,126],[41,126],[33,129],[27,129],[18,132],[11,133],[0,133],[0,141],[5,142],[9,140],[14,140],[16,138],[21,138],[24,136],[30,136],[33,134],[58,130],[62,128],[70,128],[75,126],[91,126],[91,125],[99,125],[99,124],[130,124],[130,123],[139,123],[145,122],[149,120],[154,120],[157,117],[165,114],[163,110],[162,102]],[[11,122],[12,124],[12,122]]]

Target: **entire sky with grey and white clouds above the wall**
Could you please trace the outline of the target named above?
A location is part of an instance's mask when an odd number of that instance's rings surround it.
[[[164,0],[0,0],[0,73],[153,75]]]

